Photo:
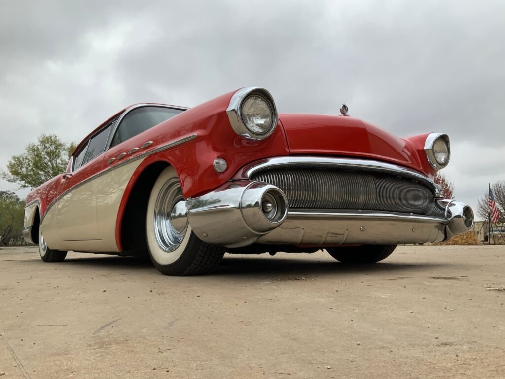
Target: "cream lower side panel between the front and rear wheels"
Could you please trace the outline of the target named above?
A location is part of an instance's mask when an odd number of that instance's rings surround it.
[[[44,215],[41,230],[56,250],[119,252],[116,220],[126,186],[143,159],[97,174],[71,188]]]

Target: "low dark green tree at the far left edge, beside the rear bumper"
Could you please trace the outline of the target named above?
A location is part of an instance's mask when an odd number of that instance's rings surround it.
[[[0,246],[23,232],[25,202],[12,191],[0,191]]]

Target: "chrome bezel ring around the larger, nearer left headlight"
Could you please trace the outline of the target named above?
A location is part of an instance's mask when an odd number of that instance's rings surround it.
[[[242,120],[242,104],[244,100],[251,95],[260,96],[268,103],[270,109],[272,110],[272,124],[270,125],[268,131],[262,134],[255,133],[254,131],[248,129]],[[235,133],[252,140],[267,138],[275,131],[277,123],[279,122],[279,115],[272,95],[265,88],[261,87],[245,87],[236,91],[230,99],[230,104],[228,105],[226,113],[228,114],[231,127]]]

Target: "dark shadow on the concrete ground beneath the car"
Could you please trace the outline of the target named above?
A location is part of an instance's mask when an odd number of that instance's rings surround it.
[[[290,278],[320,276],[320,275],[344,275],[355,273],[395,272],[401,270],[430,270],[436,271],[453,263],[446,262],[401,262],[390,258],[372,264],[345,264],[336,260],[315,260],[309,255],[300,254],[299,257],[286,258],[280,256],[271,257],[266,254],[261,256],[236,256],[226,254],[221,264],[210,274],[222,277],[244,277],[244,275],[287,276]],[[153,263],[146,258],[119,257],[119,256],[89,256],[72,258],[67,255],[63,265],[80,266],[94,270],[141,270],[152,271],[158,274]],[[289,279],[288,279],[289,280]]]

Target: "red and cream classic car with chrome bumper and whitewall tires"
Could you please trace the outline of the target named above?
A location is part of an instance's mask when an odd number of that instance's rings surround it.
[[[398,138],[340,113],[278,114],[259,87],[189,109],[132,105],[28,195],[24,237],[44,262],[148,254],[164,274],[191,275],[225,252],[372,263],[470,230],[472,209],[433,181],[446,134]]]

